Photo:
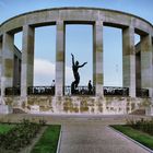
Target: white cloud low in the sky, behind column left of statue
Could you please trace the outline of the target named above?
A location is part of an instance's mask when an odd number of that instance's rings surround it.
[[[55,80],[55,63],[46,59],[35,59],[34,61],[34,85],[51,85]],[[66,67],[66,84],[73,80],[72,70]]]

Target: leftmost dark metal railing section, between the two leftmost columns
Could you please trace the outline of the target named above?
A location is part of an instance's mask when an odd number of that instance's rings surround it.
[[[21,90],[20,86],[13,86],[13,87],[7,87],[5,89],[5,95],[20,95]]]

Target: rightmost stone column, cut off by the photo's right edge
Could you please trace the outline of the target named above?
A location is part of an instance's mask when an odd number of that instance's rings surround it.
[[[153,52],[151,35],[141,36],[141,89],[149,90],[153,97]]]

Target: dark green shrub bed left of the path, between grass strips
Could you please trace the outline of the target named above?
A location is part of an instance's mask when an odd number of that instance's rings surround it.
[[[31,143],[31,140],[36,137],[43,125],[45,125],[44,120],[39,120],[39,123],[37,123],[23,119],[10,131],[0,134],[0,149],[20,152],[22,148]]]

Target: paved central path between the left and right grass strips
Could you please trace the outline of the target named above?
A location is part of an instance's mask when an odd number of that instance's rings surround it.
[[[149,153],[115,132],[101,120],[69,121],[62,125],[60,153]]]

